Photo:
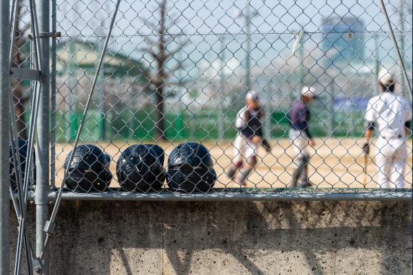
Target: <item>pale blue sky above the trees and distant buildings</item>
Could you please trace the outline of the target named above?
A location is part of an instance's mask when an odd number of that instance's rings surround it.
[[[145,54],[145,49],[151,45],[145,39],[156,39],[153,30],[159,23],[160,2],[120,1],[109,49],[151,63],[151,56]],[[59,3],[57,18],[62,39],[105,36],[115,6],[115,0]],[[412,0],[385,0],[385,6],[396,35],[401,30],[410,30],[410,35],[403,40],[403,47],[407,60],[411,61]],[[173,22],[168,33],[176,37],[167,44],[168,49],[173,51],[189,40],[180,54],[174,56],[176,62],[188,61],[181,76],[193,78],[203,74],[208,78],[211,77],[209,74],[218,75],[222,69],[237,74],[237,70],[242,71],[245,67],[247,52],[252,67],[260,69],[293,63],[291,47],[300,30],[306,32],[301,41],[301,45],[305,45],[304,54],[315,55],[314,49],[321,50],[320,41],[325,35],[321,25],[328,17],[357,17],[364,23],[363,38],[360,39],[366,43],[366,55],[377,55],[382,63],[394,63],[397,59],[377,0],[171,0],[167,1],[166,10],[167,21]],[[247,37],[251,41],[249,49]],[[372,58],[366,62],[373,62]]]

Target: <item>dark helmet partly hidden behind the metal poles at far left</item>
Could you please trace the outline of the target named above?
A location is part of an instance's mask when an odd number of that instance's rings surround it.
[[[17,148],[19,148],[19,151],[17,152]],[[13,150],[14,150],[14,156],[16,159],[13,157]],[[10,184],[12,184],[12,189],[13,191],[17,190],[17,181],[19,179],[18,173],[19,169],[21,169],[21,182],[24,181],[25,179],[25,169],[26,167],[26,159],[28,157],[28,142],[25,140],[18,140],[17,141],[17,146],[16,142],[12,142],[9,146],[9,151],[10,151]],[[36,158],[34,154],[34,148],[32,148],[32,166],[29,166],[30,171],[32,171],[32,174],[29,177],[30,185],[35,184],[36,180],[36,166],[34,164],[34,159]],[[20,163],[19,163],[20,162]]]

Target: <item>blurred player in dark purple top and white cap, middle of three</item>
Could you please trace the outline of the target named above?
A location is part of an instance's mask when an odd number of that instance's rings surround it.
[[[301,97],[293,103],[293,107],[288,113],[290,123],[288,137],[290,137],[295,153],[295,167],[293,168],[293,180],[290,187],[313,186],[308,180],[308,162],[310,161],[308,145],[315,146],[315,142],[308,129],[308,122],[310,121],[308,104],[313,102],[315,98],[316,91],[314,87],[303,87]]]

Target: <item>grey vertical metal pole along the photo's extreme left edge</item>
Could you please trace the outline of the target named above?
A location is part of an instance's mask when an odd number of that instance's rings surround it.
[[[10,5],[0,7],[0,102],[10,102]],[[9,133],[10,105],[0,104],[1,133]],[[10,272],[10,197],[9,197],[9,140],[0,135],[0,274]]]

